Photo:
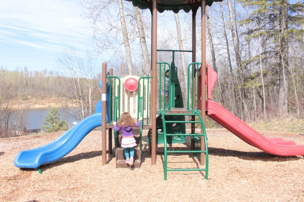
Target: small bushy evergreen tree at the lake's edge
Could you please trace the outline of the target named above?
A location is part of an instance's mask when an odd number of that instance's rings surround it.
[[[58,108],[52,107],[50,108],[49,113],[45,117],[43,121],[42,128],[48,132],[58,132],[58,131],[66,131],[67,130],[67,121],[63,121],[60,119],[60,113]]]

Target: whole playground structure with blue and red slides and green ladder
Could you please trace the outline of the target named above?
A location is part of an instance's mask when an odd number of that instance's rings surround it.
[[[15,165],[20,168],[39,168],[41,165],[57,161],[72,151],[80,141],[95,127],[102,127],[102,165],[106,164],[106,131],[108,130],[109,153],[112,153],[113,121],[117,121],[124,111],[138,119],[143,116],[139,130],[134,130],[137,147],[135,148],[135,162],[133,167],[140,167],[142,148],[142,129],[148,129],[148,144],[150,145],[151,164],[156,164],[156,145],[164,144],[164,179],[168,171],[205,171],[208,179],[208,145],[205,130],[206,115],[217,121],[230,132],[245,141],[270,154],[280,156],[304,155],[304,145],[295,145],[293,141],[284,141],[282,138],[266,138],[239,118],[231,114],[218,103],[211,100],[212,89],[217,80],[217,74],[211,65],[206,64],[206,36],[205,36],[205,6],[211,6],[215,1],[204,0],[127,0],[134,6],[149,8],[152,14],[152,52],[151,76],[128,76],[119,78],[113,75],[113,69],[107,70],[106,63],[102,64],[102,80],[99,85],[102,89],[101,101],[96,104],[95,114],[85,118],[73,126],[55,141],[43,147],[21,151],[16,156]],[[220,0],[219,0],[220,1]],[[170,2],[165,4],[165,2]],[[201,8],[202,13],[202,62],[196,61],[195,42],[195,15]],[[172,62],[157,62],[157,10],[179,10],[189,12],[192,10],[192,63],[187,71],[187,103],[182,102],[181,88],[177,77],[178,68],[174,64],[174,52],[182,50],[162,50],[173,53]],[[159,50],[161,51],[161,50]],[[169,97],[168,105],[165,98],[157,97],[165,85],[165,70],[169,70]],[[158,76],[157,77],[157,72]],[[160,82],[157,82],[159,78]],[[206,98],[207,89],[207,100]],[[158,103],[158,108],[157,108]],[[190,117],[189,120],[186,117]],[[190,133],[186,134],[185,124],[191,124]],[[195,126],[199,124],[200,134],[195,133]],[[169,151],[167,144],[184,143],[185,137],[190,136],[191,148],[183,151]],[[114,132],[114,148],[116,154],[116,167],[130,167],[124,163],[124,156],[120,148],[121,136]],[[174,168],[168,169],[168,156],[172,153],[194,153],[204,168]]]

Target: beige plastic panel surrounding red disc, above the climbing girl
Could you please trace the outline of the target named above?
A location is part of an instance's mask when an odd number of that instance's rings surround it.
[[[137,100],[138,100],[138,89],[134,92],[130,92],[130,91],[127,91],[126,88],[125,88],[125,81],[128,79],[128,78],[134,78],[136,79],[137,81],[139,80],[140,77],[138,76],[126,76],[126,77],[123,77],[120,79],[120,93],[121,93],[121,96],[120,96],[120,114],[122,114],[123,112],[126,112],[128,111],[132,118],[137,118]],[[147,117],[147,109],[149,109],[149,102],[147,102],[147,98],[149,98],[150,100],[150,96],[147,92],[147,85],[148,84],[148,81],[147,79],[145,79],[145,83],[143,84],[143,80],[140,81],[140,95],[142,96],[142,86],[144,87],[145,91],[145,96],[144,96],[144,111],[143,111],[143,114],[140,114],[140,116],[143,116],[143,118],[146,118]],[[116,89],[118,89],[118,84],[116,86]],[[150,86],[149,86],[149,89]],[[118,91],[116,91],[116,96],[118,96]]]

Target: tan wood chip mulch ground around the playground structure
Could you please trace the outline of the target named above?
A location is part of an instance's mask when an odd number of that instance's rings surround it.
[[[102,166],[101,132],[91,132],[69,153],[36,170],[20,170],[19,151],[54,141],[60,134],[0,140],[0,201],[304,201],[304,159],[282,157],[252,147],[226,130],[207,130],[209,179],[205,172],[168,172],[164,181],[163,145],[151,165],[143,136],[139,169],[115,168],[114,154]],[[304,144],[304,135],[269,134]],[[172,144],[180,149],[186,144]],[[173,148],[175,149],[175,148]],[[197,168],[192,154],[168,157],[171,168]]]

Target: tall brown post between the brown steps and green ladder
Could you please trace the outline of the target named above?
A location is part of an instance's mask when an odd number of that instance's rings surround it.
[[[156,54],[157,54],[157,0],[153,0],[152,8],[152,40],[151,40],[151,75],[152,75],[152,87],[151,87],[151,164],[156,164]]]

